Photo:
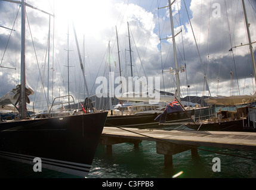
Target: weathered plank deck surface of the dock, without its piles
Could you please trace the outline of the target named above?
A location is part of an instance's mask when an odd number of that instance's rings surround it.
[[[256,150],[255,132],[190,131],[104,127],[103,137],[168,141],[180,145]]]

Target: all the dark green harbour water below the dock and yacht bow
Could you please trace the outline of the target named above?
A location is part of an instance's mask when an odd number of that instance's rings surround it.
[[[143,179],[143,178],[256,178],[256,151],[200,147],[198,156],[191,151],[175,154],[173,166],[164,166],[164,155],[156,153],[154,141],[142,141],[138,147],[122,143],[107,153],[98,144],[88,179]],[[220,160],[219,171],[214,171],[214,158]],[[52,170],[33,172],[33,166],[0,160],[1,178],[80,178]],[[15,171],[15,172],[11,172]]]

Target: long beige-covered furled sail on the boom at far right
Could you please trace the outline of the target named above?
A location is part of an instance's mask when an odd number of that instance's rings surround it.
[[[240,96],[216,96],[208,97],[205,102],[212,105],[235,106],[256,102],[256,94]]]

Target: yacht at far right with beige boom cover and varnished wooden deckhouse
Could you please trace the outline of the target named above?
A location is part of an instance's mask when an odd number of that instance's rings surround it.
[[[252,49],[252,41],[251,34],[249,30],[249,23],[246,14],[245,2],[242,0],[243,14],[245,17],[246,30],[249,39],[249,49],[251,52],[252,59],[252,68],[254,70],[254,77],[256,82],[256,67],[255,67],[255,59],[254,52]],[[255,131],[256,126],[256,108],[251,106],[243,106],[249,105],[250,103],[256,102],[256,92],[252,95],[239,95],[239,96],[217,96],[217,97],[209,97],[205,99],[205,102],[212,105],[221,105],[221,106],[239,106],[236,107],[235,111],[227,111],[227,110],[218,110],[215,118],[197,121],[197,122],[189,122],[186,124],[188,128],[196,129],[196,130],[209,130],[209,131]]]

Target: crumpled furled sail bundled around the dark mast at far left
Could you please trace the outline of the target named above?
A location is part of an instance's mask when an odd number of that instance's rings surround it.
[[[0,105],[4,106],[4,105],[12,104],[12,105],[16,106],[21,98],[20,87],[21,87],[21,85],[19,84],[16,86],[16,88],[13,88],[13,90],[11,90],[10,92],[8,92],[4,96],[2,96],[0,98]],[[28,96],[33,95],[33,94],[35,94],[35,92],[32,90],[32,88],[26,87],[26,102],[27,103],[30,103]]]

